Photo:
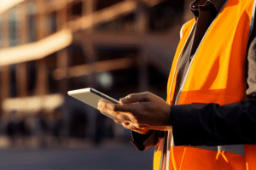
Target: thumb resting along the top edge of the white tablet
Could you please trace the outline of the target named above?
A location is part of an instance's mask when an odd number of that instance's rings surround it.
[[[150,100],[150,93],[143,92],[139,94],[129,94],[125,98],[119,99],[121,104],[133,104],[137,102],[149,101]]]

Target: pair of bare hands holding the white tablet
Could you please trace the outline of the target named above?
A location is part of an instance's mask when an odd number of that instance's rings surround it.
[[[130,94],[119,101],[121,105],[100,101],[98,110],[117,117],[119,120],[124,120],[122,125],[136,132],[141,132],[144,129],[172,129],[171,122],[168,122],[171,105],[166,104],[164,99],[144,92]]]

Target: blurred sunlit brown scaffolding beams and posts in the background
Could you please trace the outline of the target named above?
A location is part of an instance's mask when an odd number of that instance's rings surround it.
[[[11,3],[13,2],[13,3]],[[153,7],[164,0],[117,1],[106,8],[96,9],[96,0],[14,0],[0,8],[2,41],[0,49],[1,67],[1,116],[12,110],[35,112],[41,109],[52,110],[64,105],[67,98],[68,80],[74,77],[86,76],[89,87],[96,88],[96,73],[116,71],[137,65],[137,91],[146,91],[148,87],[148,62],[158,65],[163,71],[169,71],[172,58],[156,59],[155,55],[170,55],[175,52],[178,37],[177,29],[166,35],[152,35],[148,31],[147,7]],[[107,2],[107,1],[106,1]],[[105,2],[105,3],[106,3]],[[189,1],[188,1],[189,2]],[[73,4],[79,3],[81,14],[72,14]],[[187,2],[186,2],[187,3]],[[10,35],[10,13],[15,11],[16,37],[12,45]],[[96,31],[96,26],[116,20],[127,14],[135,14],[135,21],[128,23],[132,34],[102,33]],[[187,17],[187,12],[184,18]],[[35,37],[29,38],[33,32],[29,29],[34,17]],[[55,17],[54,20],[50,20]],[[187,17],[188,18],[188,17]],[[52,26],[55,22],[55,26]],[[177,26],[180,28],[180,25]],[[172,41],[170,43],[170,37]],[[67,47],[79,44],[86,54],[87,62],[82,65],[72,65]],[[99,46],[122,48],[137,48],[138,56],[127,55],[119,59],[98,60],[96,48]],[[163,45],[168,46],[163,48]],[[150,51],[156,48],[154,52]],[[159,50],[159,52],[157,51]],[[165,54],[166,53],[166,54]],[[55,59],[49,59],[55,54]],[[151,54],[151,58],[150,58]],[[35,90],[28,92],[28,67],[33,62],[37,67]],[[49,71],[49,65],[54,65]],[[15,67],[16,95],[11,95],[12,68]],[[49,93],[49,75],[58,82],[58,92]],[[64,108],[65,110],[65,108]]]

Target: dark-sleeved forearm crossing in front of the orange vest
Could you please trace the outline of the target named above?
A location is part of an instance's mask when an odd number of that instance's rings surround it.
[[[175,145],[256,144],[256,99],[230,105],[174,105]]]

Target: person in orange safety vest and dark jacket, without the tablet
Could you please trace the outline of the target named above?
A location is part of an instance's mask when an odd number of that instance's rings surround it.
[[[167,102],[130,94],[98,109],[155,146],[156,169],[256,169],[254,0],[195,0],[181,30]],[[166,104],[167,103],[167,104]],[[120,122],[117,122],[120,123]]]

